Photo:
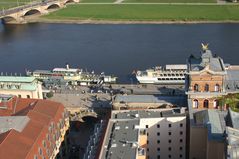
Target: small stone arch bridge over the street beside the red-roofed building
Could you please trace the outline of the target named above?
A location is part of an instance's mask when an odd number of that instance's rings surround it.
[[[82,109],[82,108],[66,108],[70,113],[70,121],[82,121],[83,117],[94,117],[97,118],[98,115],[91,109]]]

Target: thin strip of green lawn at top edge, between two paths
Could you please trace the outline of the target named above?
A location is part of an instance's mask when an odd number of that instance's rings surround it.
[[[216,0],[124,0],[123,3],[216,3]]]

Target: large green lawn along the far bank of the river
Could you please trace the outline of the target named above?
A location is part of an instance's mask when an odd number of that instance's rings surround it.
[[[62,20],[223,21],[239,20],[239,5],[71,5],[45,18]]]

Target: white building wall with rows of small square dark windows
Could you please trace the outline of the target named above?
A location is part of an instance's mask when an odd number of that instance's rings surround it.
[[[171,126],[169,124],[171,124]],[[140,128],[146,128],[147,131],[147,156],[149,159],[186,158],[185,116],[143,118],[140,119]]]

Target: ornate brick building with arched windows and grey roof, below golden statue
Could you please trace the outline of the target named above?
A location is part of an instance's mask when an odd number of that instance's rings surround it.
[[[194,109],[217,109],[218,97],[226,95],[226,67],[222,58],[204,48],[200,57],[191,55],[187,60],[186,93]]]

